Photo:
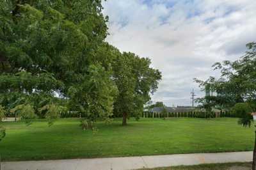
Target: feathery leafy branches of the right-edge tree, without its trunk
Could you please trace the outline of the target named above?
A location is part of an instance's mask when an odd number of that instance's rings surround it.
[[[206,93],[217,93],[217,95],[206,95],[198,99],[198,102],[207,109],[211,107],[229,109],[241,102],[255,105],[256,43],[248,43],[246,47],[248,50],[242,58],[215,63],[212,66],[214,70],[220,70],[220,79],[214,77],[210,77],[207,81],[195,79]]]

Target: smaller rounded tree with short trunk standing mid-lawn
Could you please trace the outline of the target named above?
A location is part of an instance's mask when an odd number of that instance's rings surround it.
[[[122,125],[127,125],[127,118],[131,115],[138,118],[143,105],[150,100],[150,93],[157,89],[161,72],[151,68],[150,63],[150,59],[131,52],[119,52],[113,63],[113,79],[119,91],[114,114],[122,115]]]

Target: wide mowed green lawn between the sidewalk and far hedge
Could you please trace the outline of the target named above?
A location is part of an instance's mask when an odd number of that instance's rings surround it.
[[[99,131],[81,130],[79,119],[61,119],[52,127],[44,120],[26,127],[22,122],[1,123],[6,137],[0,141],[2,160],[124,157],[175,153],[248,151],[253,149],[254,128],[244,128],[236,118],[120,120]]]

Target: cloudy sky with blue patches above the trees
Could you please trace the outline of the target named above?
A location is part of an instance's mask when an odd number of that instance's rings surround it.
[[[152,101],[191,105],[193,78],[218,76],[212,64],[243,55],[256,41],[255,0],[108,0],[107,40],[152,59],[163,74]]]

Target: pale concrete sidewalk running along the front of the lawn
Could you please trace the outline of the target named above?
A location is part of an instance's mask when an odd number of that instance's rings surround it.
[[[225,162],[251,162],[252,155],[252,151],[242,151],[143,157],[2,162],[1,170],[124,170],[140,169],[143,167],[152,168]]]

